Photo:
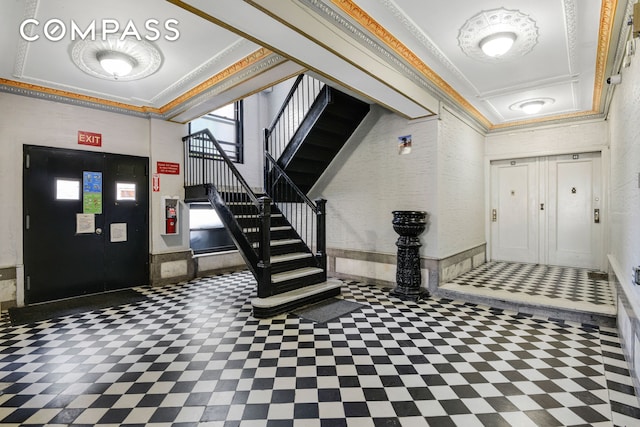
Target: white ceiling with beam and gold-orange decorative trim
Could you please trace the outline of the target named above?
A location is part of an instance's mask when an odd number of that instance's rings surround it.
[[[443,105],[485,131],[598,118],[626,52],[631,3],[8,0],[0,91],[184,123],[312,72],[410,119]],[[478,40],[496,23],[517,38],[488,58]],[[81,39],[108,31],[137,34],[159,69],[131,81],[81,70]],[[533,99],[545,105],[527,115],[519,106]]]

